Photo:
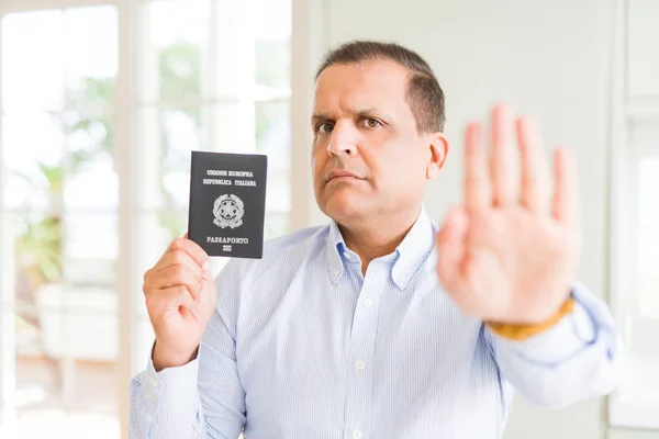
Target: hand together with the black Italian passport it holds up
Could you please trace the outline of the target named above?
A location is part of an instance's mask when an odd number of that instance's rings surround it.
[[[188,239],[174,239],[144,275],[156,371],[197,357],[217,301],[209,257],[263,257],[267,157],[192,151],[190,168]]]

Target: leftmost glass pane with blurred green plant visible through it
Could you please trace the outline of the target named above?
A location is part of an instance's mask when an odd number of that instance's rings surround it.
[[[14,331],[0,345],[12,363],[1,373],[15,410],[7,436],[75,437],[97,425],[116,437],[118,11],[8,13],[0,25],[0,200],[13,248],[2,267],[14,267],[1,292],[2,330]]]

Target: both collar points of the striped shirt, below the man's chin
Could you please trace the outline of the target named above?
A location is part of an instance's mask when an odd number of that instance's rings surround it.
[[[391,278],[399,290],[405,290],[414,273],[433,250],[435,229],[436,227],[428,217],[425,206],[422,205],[414,225],[395,249],[395,261],[391,270]],[[326,254],[330,275],[335,284],[344,273],[345,266],[340,255],[346,249],[347,247],[340,234],[340,229],[338,228],[338,224],[331,221],[326,243]]]

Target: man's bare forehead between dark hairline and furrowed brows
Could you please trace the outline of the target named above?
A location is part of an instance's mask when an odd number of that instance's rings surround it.
[[[314,108],[392,108],[406,104],[407,70],[389,60],[334,65],[316,82]]]

